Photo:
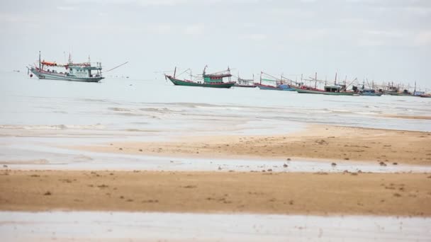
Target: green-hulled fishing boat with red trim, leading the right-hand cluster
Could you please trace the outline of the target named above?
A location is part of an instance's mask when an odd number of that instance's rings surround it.
[[[192,81],[190,80],[180,80],[175,77],[175,74],[177,73],[177,67],[175,67],[174,70],[174,76],[170,76],[167,74],[164,74],[165,79],[169,79],[169,81],[172,81],[175,86],[202,86],[202,87],[211,87],[211,88],[231,88],[233,85],[235,85],[235,81],[230,81],[230,69],[228,68],[226,71],[220,71],[213,74],[206,74],[206,68],[203,68],[202,78]],[[223,78],[229,78],[228,82],[223,82]]]

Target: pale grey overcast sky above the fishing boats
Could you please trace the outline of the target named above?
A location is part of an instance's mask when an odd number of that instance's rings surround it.
[[[234,68],[292,79],[418,82],[431,88],[429,0],[55,0],[0,2],[0,70],[44,59],[155,71]],[[112,72],[111,72],[112,73]]]

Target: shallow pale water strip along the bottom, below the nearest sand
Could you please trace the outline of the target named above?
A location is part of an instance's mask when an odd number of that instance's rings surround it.
[[[421,217],[0,212],[6,241],[429,241]]]

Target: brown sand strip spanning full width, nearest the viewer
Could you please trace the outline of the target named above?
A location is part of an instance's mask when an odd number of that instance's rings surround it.
[[[431,173],[6,171],[3,211],[431,216]]]

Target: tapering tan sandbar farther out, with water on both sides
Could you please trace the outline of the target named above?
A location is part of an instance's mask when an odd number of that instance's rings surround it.
[[[431,165],[431,133],[310,125],[279,136],[181,137],[176,142],[113,142],[74,149],[206,158],[306,158]]]

